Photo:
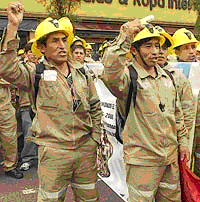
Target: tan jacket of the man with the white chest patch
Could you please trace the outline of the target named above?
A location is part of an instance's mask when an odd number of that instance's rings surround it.
[[[30,92],[33,100],[35,74],[18,60],[16,50],[19,40],[8,42],[7,50],[0,53],[0,75],[18,88]],[[66,78],[55,67],[45,64],[46,69],[57,71],[56,81],[41,78],[37,96],[37,111],[32,124],[36,135],[33,141],[63,149],[77,148],[92,137],[99,142],[102,111],[99,97],[89,73],[86,76],[69,64],[80,105],[73,111],[73,99]],[[79,67],[80,68],[80,67]]]

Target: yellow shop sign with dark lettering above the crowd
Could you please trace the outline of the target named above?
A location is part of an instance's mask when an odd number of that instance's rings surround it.
[[[197,12],[193,11],[192,0],[82,0],[73,14],[80,17],[104,19],[133,19],[154,15],[155,21],[196,23]],[[2,1],[5,9],[10,1]],[[42,4],[35,0],[21,0],[27,13],[45,13]]]

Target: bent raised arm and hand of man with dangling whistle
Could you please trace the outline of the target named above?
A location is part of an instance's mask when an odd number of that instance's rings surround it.
[[[106,49],[103,55],[104,72],[101,79],[118,98],[127,96],[126,91],[128,91],[130,78],[127,77],[124,71],[125,55],[130,51],[134,36],[143,29],[143,26],[138,19],[122,25],[119,36],[111,43],[111,46]]]

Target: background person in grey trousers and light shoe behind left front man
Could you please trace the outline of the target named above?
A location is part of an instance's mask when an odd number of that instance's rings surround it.
[[[24,65],[25,68],[29,68],[29,70],[33,73],[36,72],[36,64],[38,63],[38,57],[32,52],[32,41],[29,41],[25,46],[25,57],[24,60],[21,61],[21,64]],[[27,141],[26,137],[32,136],[32,132],[29,128],[32,125],[32,108],[31,101],[29,98],[29,93],[22,89],[19,89],[19,110],[20,110],[20,119],[19,123],[21,124],[21,131],[23,135],[23,147],[20,152],[20,157],[18,164],[20,165],[21,171],[29,170],[34,162],[37,160],[37,145],[33,142]],[[19,139],[19,141],[22,140]]]

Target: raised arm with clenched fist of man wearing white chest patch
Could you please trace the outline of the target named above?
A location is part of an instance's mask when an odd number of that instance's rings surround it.
[[[17,59],[19,39],[16,33],[23,19],[23,4],[12,2],[7,8],[8,26],[0,44],[0,76],[18,88],[29,91],[34,75],[31,75]]]

